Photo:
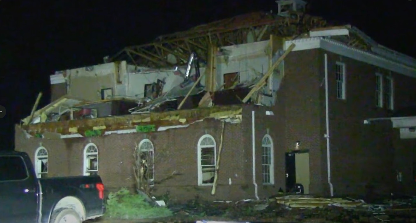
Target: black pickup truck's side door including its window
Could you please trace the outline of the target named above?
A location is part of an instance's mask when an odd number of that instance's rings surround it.
[[[0,222],[37,222],[37,179],[20,156],[0,156]]]

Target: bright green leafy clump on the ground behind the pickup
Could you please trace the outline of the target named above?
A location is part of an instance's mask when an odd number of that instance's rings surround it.
[[[117,219],[163,218],[172,215],[166,207],[151,206],[144,196],[130,193],[126,188],[109,193],[106,216]]]

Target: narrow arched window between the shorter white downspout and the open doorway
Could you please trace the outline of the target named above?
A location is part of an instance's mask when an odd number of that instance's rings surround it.
[[[263,184],[274,184],[273,141],[270,135],[266,134],[263,137],[261,144]]]

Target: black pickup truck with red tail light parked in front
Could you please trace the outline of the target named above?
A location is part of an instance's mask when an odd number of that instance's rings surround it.
[[[37,178],[26,153],[0,151],[0,222],[81,223],[104,213],[99,176]]]

